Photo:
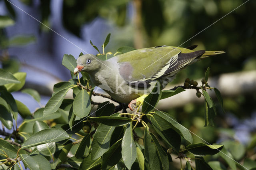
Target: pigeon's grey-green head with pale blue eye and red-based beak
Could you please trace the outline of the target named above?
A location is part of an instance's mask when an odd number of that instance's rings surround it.
[[[92,71],[98,70],[100,68],[101,62],[96,58],[97,57],[95,55],[91,54],[81,55],[78,57],[76,60],[77,66],[74,69],[74,74],[77,74],[80,71],[90,73]]]

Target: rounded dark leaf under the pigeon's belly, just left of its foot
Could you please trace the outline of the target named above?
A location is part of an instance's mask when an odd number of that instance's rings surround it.
[[[113,103],[109,103],[109,101],[105,101],[98,106],[95,115],[96,117],[109,116],[114,113],[114,110],[115,105]]]

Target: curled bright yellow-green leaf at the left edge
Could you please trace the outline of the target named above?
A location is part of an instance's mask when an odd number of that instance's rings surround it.
[[[18,79],[18,81],[20,81],[20,83],[9,83],[9,84],[4,85],[7,89],[7,91],[13,92],[13,91],[20,90],[25,84],[26,75],[27,75],[27,73],[24,73],[24,72],[14,73],[13,76],[16,79]]]

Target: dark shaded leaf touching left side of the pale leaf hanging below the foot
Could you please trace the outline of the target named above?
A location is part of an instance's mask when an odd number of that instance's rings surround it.
[[[105,152],[102,156],[101,169],[109,169],[110,167],[118,164],[119,160],[122,158],[122,139],[118,140],[110,149]]]

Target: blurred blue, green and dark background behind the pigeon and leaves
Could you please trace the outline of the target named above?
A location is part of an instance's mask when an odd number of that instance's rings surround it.
[[[25,87],[39,91],[41,103],[23,93],[13,95],[34,112],[50,99],[55,83],[71,78],[61,64],[63,55],[97,54],[89,41],[101,49],[108,33],[106,51],[112,53],[122,46],[194,44],[198,50],[224,50],[225,54],[182,70],[168,86],[182,85],[187,77],[199,80],[200,85],[210,67],[209,85],[219,88],[225,110],[217,108],[214,127],[204,127],[204,100],[196,97],[196,91],[171,97],[159,103],[159,109],[207,142],[225,144],[227,152],[246,167],[256,167],[256,1],[244,2],[0,0],[0,67],[27,73]],[[194,142],[204,141],[194,136]]]

